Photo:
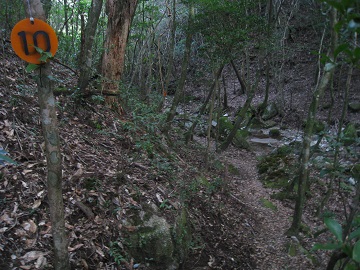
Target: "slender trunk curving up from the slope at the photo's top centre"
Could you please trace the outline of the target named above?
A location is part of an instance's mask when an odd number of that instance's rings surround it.
[[[186,41],[185,41],[185,52],[184,52],[184,58],[181,65],[181,75],[178,87],[176,88],[175,96],[173,99],[173,102],[171,104],[170,111],[167,114],[166,122],[162,128],[162,132],[167,134],[171,128],[172,121],[174,120],[175,114],[176,114],[176,108],[178,104],[180,103],[180,99],[184,94],[185,90],[185,82],[186,82],[186,76],[188,71],[188,66],[190,62],[190,54],[191,54],[191,42],[192,42],[192,32],[190,31],[192,22],[195,15],[195,9],[193,3],[189,4],[189,20],[188,20],[188,32],[186,34]]]

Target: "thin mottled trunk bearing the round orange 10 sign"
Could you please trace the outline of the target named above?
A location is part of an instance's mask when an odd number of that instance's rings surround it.
[[[24,0],[28,12],[27,0]],[[40,0],[33,0],[31,14],[46,21],[45,12]],[[45,140],[47,160],[47,191],[50,219],[54,244],[54,269],[69,270],[68,240],[65,231],[64,204],[62,197],[62,166],[59,142],[59,131],[56,117],[56,105],[50,80],[49,63],[41,65],[37,76],[40,120]]]

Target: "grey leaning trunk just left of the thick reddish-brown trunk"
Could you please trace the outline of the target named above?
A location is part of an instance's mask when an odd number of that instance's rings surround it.
[[[89,84],[92,68],[92,46],[95,39],[96,28],[99,21],[103,0],[92,0],[89,10],[89,18],[85,28],[84,41],[82,42],[83,53],[80,54],[80,77],[78,89],[84,93]]]

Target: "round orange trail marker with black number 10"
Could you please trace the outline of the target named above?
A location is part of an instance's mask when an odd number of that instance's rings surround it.
[[[29,18],[18,22],[11,32],[11,45],[15,53],[26,62],[41,64],[38,47],[45,52],[55,55],[58,49],[58,39],[54,29],[46,22]]]

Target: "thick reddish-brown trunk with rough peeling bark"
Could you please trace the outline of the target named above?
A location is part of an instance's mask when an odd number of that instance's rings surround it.
[[[124,71],[125,49],[137,0],[107,0],[108,24],[102,56],[102,93],[108,105],[117,104],[119,81]],[[115,103],[115,104],[114,104]],[[121,108],[120,108],[121,109]]]

